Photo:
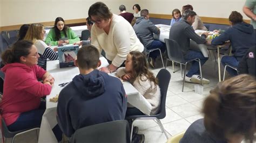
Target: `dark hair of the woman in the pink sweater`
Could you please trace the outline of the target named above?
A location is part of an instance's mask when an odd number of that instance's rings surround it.
[[[3,63],[6,65],[8,63],[20,62],[21,56],[28,56],[33,43],[28,40],[19,40],[10,49],[2,54]]]

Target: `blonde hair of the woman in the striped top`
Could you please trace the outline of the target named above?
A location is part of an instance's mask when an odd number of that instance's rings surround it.
[[[37,40],[43,40],[41,33],[43,31],[44,25],[40,23],[31,24],[29,26],[28,32],[26,32],[24,40],[30,40],[35,44]]]

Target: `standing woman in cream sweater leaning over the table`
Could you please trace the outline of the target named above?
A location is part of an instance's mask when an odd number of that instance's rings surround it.
[[[91,22],[91,45],[95,46],[99,53],[105,51],[105,58],[109,67],[100,70],[112,73],[120,66],[124,66],[127,54],[131,51],[143,52],[144,46],[140,43],[131,24],[122,16],[114,15],[109,8],[97,2],[90,6],[88,12]]]

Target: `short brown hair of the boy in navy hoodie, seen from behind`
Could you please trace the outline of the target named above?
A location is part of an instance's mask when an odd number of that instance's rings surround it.
[[[99,51],[95,46],[87,45],[78,50],[77,64],[82,69],[96,69],[99,62]]]

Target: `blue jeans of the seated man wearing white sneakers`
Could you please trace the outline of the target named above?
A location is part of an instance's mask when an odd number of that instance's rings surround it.
[[[187,53],[184,55],[185,60],[191,60],[194,58],[199,58],[201,66],[204,65],[204,63],[208,60],[208,57],[206,58],[203,53],[193,50],[188,50]],[[190,70],[186,74],[187,77],[191,77],[192,75],[199,75],[199,62],[192,61],[192,66],[190,67]]]

